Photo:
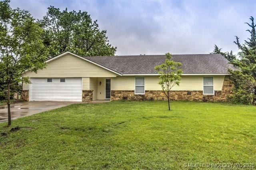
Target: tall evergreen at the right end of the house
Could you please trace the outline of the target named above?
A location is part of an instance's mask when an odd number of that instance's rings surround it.
[[[238,53],[240,59],[232,61],[240,71],[230,70],[230,78],[234,81],[235,89],[233,95],[230,97],[233,103],[256,104],[256,25],[254,18],[250,17],[251,24],[246,23],[251,30],[250,38],[240,44],[239,38],[236,37],[236,45],[240,52]]]

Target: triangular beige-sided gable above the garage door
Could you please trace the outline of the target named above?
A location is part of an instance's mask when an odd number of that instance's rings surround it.
[[[47,63],[46,68],[37,73],[26,72],[23,77],[116,77],[98,65],[71,54],[66,54]]]

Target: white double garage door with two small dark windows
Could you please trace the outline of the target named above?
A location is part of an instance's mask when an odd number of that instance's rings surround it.
[[[30,101],[82,101],[81,78],[31,78]]]

